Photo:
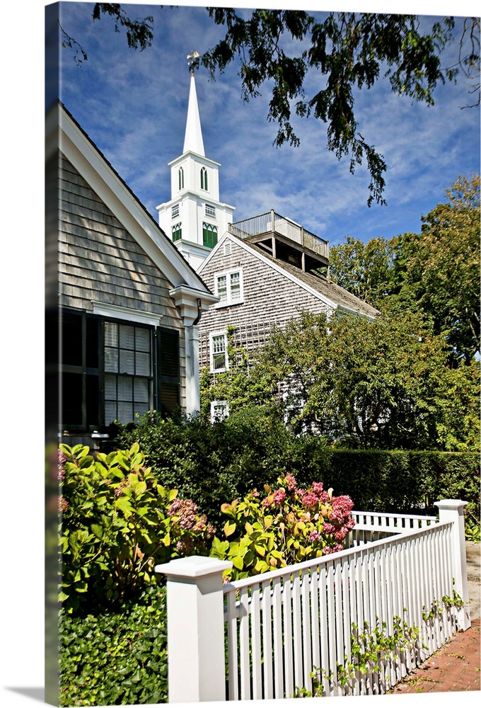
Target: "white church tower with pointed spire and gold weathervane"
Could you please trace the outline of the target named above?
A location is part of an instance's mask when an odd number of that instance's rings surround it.
[[[220,164],[205,156],[192,67],[184,149],[169,167],[171,199],[157,207],[158,223],[197,270],[232,223],[234,207],[219,201]]]

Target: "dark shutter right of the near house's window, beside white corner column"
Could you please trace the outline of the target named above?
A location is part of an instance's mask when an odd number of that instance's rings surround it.
[[[180,406],[180,350],[176,329],[157,328],[157,410],[163,416]]]

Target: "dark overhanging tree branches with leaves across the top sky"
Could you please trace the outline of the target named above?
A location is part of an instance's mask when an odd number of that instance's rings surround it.
[[[400,96],[434,103],[436,86],[456,80],[463,72],[474,81],[472,93],[479,105],[480,19],[463,21],[456,66],[444,69],[441,55],[453,40],[455,19],[441,18],[429,31],[420,29],[415,15],[373,13],[328,13],[313,16],[300,10],[243,10],[207,8],[216,25],[226,28],[224,38],[196,60],[209,69],[211,77],[240,61],[242,95],[245,101],[260,95],[267,84],[270,96],[268,119],[279,125],[274,144],[298,145],[292,115],[313,115],[328,127],[328,149],[338,159],[347,156],[350,171],[366,161],[371,176],[368,205],[384,203],[386,162],[359,131],[354,96],[359,89],[371,89],[380,76]],[[120,4],[95,3],[93,19],[102,15],[115,19],[115,30],[126,28],[129,47],[143,50],[151,45],[153,18],[132,21]],[[76,52],[76,60],[87,59],[81,45],[62,28],[64,46]],[[306,48],[307,47],[307,48]],[[194,62],[194,63],[196,63]],[[307,95],[308,72],[318,79],[316,91]]]

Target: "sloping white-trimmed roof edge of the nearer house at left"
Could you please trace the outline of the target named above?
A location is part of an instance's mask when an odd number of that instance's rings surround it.
[[[61,101],[46,117],[45,156],[59,149],[172,283],[207,307],[217,298]]]

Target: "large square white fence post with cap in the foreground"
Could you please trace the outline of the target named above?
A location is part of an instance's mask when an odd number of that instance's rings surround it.
[[[190,556],[155,568],[167,576],[169,703],[226,700],[222,573],[231,567]]]

